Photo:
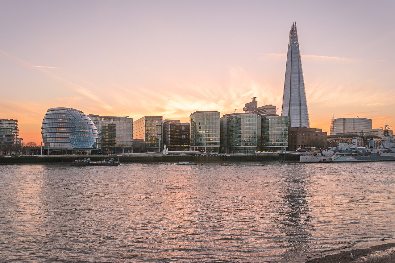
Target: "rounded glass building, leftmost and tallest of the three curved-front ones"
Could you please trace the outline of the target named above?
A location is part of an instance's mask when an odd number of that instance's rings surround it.
[[[190,150],[219,152],[220,113],[218,111],[196,111],[189,116],[191,128]]]

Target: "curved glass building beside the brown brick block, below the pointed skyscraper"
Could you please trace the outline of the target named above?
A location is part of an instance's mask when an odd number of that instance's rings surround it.
[[[286,151],[288,147],[288,116],[261,117],[262,152]]]

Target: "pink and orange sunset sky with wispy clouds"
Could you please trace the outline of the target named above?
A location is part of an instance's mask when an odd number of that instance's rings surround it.
[[[85,114],[281,114],[297,24],[311,128],[395,127],[395,1],[0,0],[0,118],[41,143],[47,109]]]

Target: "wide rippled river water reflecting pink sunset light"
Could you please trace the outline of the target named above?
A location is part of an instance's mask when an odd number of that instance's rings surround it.
[[[290,262],[395,237],[395,162],[0,165],[0,261]]]

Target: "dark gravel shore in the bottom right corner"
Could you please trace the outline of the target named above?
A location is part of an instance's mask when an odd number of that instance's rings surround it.
[[[353,257],[351,257],[351,254]],[[306,263],[395,263],[395,243],[342,251],[307,259]]]

